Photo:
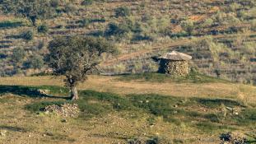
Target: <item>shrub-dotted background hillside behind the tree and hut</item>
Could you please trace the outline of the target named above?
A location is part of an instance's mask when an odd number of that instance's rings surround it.
[[[153,72],[158,65],[152,56],[178,50],[191,54],[191,67],[200,72],[255,83],[254,0],[75,0],[54,7],[56,16],[37,26],[21,16],[0,17],[1,76],[44,71],[42,58],[54,36],[92,35],[113,41],[122,52],[102,64],[105,74]]]

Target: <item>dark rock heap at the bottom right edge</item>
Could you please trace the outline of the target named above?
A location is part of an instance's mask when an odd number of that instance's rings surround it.
[[[221,144],[245,144],[246,137],[240,132],[227,132],[221,134]]]

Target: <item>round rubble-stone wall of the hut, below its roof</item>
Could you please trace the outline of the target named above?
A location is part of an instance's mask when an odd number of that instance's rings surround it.
[[[162,59],[159,72],[174,76],[186,76],[189,74],[189,63],[187,61],[171,61]]]

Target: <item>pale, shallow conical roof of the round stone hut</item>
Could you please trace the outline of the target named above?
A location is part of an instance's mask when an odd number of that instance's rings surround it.
[[[168,59],[174,61],[189,61],[192,57],[185,53],[179,53],[177,51],[172,51],[171,53],[165,53],[160,57],[160,59]]]

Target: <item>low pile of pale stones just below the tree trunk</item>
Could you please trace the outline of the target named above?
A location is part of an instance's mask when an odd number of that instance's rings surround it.
[[[64,117],[77,117],[80,112],[77,104],[49,105],[44,108],[45,113],[56,113]]]

